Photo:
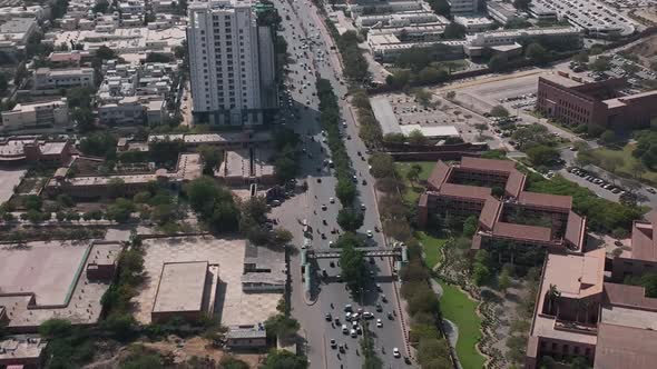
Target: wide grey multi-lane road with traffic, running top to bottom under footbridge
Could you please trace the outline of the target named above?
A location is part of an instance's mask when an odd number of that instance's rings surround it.
[[[331,50],[330,36],[321,23],[316,8],[310,1],[276,0],[274,4],[283,19],[283,30],[280,34],[287,41],[290,54],[290,72],[286,80],[290,92],[283,94],[282,114],[285,117],[286,126],[295,129],[303,137],[305,150],[301,161],[300,180],[305,180],[308,184],[308,190],[304,195],[285,201],[281,208],[275,209],[274,213],[282,226],[293,232],[297,248],[303,245],[301,222],[304,220],[313,230],[313,249],[329,249],[329,242],[335,241],[340,236],[331,232],[333,229],[340,229],[336,218],[341,205],[334,191],[335,179],[331,169],[324,166],[324,160],[330,159],[330,152],[318,124],[318,99],[315,90],[316,77],[321,77],[333,84],[345,122],[344,127],[341,124],[341,129],[347,153],[353,162],[354,176],[359,182],[359,197],[354,207],[365,209],[364,225],[359,233],[366,235],[366,231],[371,230],[373,237],[369,239],[369,245],[386,247],[383,235],[375,231],[376,228],[381,229],[381,223],[373,191],[374,179],[369,173],[366,148],[357,136],[357,127],[344,99],[346,87],[341,82],[340,60],[336,51]],[[363,180],[366,184],[363,184]],[[331,198],[334,198],[334,202]],[[323,206],[326,210],[322,210]],[[390,260],[381,258],[367,260],[366,266],[372,271],[370,291],[359,301],[353,301],[343,282],[339,282],[336,278],[318,278],[323,270],[330,277],[340,275],[337,260],[320,260],[315,263],[314,276],[317,278],[314,280],[317,283],[314,285],[312,296],[307,297],[304,292],[298,258],[298,253],[291,258],[291,309],[292,316],[302,326],[301,336],[306,340],[304,350],[308,356],[311,368],[361,368],[363,359],[360,352],[361,336],[351,338],[343,335],[340,326],[325,320],[325,315],[331,313],[333,318],[340,318],[341,325],[347,323],[351,328],[351,323],[344,319],[343,311],[347,303],[353,305],[354,310],[363,307],[365,311],[374,313],[375,318],[370,320],[370,330],[374,333],[374,341],[384,367],[410,367],[403,359],[409,353],[400,320],[399,286],[395,285]],[[381,291],[376,290],[376,283]],[[382,302],[383,296],[386,297],[386,302]],[[381,303],[381,312],[376,311],[376,303]],[[388,318],[389,312],[393,313],[393,319]],[[382,320],[383,327],[376,327],[376,319]],[[331,348],[332,339],[335,339],[337,345],[346,343],[344,353]],[[395,347],[401,351],[402,358],[393,357]]]

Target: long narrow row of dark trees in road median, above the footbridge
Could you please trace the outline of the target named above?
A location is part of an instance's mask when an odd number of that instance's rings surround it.
[[[337,104],[337,97],[333,92],[331,82],[318,79],[316,83],[317,97],[320,98],[320,121],[326,131],[331,157],[335,167],[335,195],[343,207],[351,207],[356,198],[356,186],[352,180],[353,169],[351,159],[340,137],[341,113]]]

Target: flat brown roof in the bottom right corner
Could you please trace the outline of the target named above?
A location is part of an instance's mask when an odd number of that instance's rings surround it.
[[[596,369],[657,367],[657,331],[601,323],[598,327]]]

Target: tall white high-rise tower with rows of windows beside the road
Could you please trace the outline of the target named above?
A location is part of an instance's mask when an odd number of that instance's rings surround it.
[[[262,124],[276,107],[271,30],[248,0],[192,2],[187,44],[197,123]]]

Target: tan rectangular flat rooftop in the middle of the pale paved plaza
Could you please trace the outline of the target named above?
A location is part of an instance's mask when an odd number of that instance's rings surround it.
[[[165,262],[153,312],[200,311],[207,261]]]

